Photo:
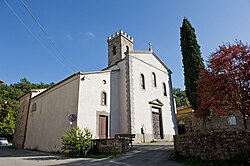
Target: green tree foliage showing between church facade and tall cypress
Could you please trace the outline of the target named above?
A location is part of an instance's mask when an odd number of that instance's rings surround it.
[[[177,107],[190,107],[185,90],[173,88],[173,94],[176,96],[175,100]]]

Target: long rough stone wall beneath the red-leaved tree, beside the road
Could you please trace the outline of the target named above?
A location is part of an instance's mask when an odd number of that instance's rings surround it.
[[[196,156],[203,160],[225,160],[240,156],[250,161],[250,131],[176,135],[174,143],[175,151],[185,156]]]

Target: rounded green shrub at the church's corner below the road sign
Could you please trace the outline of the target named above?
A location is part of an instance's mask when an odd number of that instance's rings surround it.
[[[78,127],[72,128],[70,131],[65,131],[62,136],[62,151],[68,152],[71,157],[83,157],[88,155],[95,143],[92,141],[92,133],[89,129],[84,130]]]

